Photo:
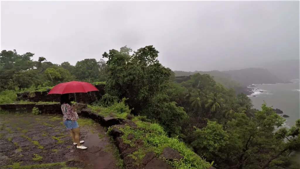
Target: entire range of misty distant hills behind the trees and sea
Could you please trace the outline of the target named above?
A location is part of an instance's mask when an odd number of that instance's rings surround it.
[[[174,71],[176,76],[188,76],[194,73],[209,74],[225,87],[249,86],[251,84],[288,83],[299,79],[299,60],[280,60],[257,63],[253,67],[227,71]]]

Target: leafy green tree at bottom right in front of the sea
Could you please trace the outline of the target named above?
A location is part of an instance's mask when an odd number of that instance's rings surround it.
[[[235,113],[234,118],[227,122],[226,131],[229,142],[214,156],[216,165],[220,168],[232,169],[265,169],[289,168],[288,150],[299,148],[298,125],[291,131],[274,129],[280,127],[284,119],[277,115],[271,107],[262,104],[262,110],[255,113],[254,118],[247,117],[244,113]],[[292,136],[294,140],[284,142],[285,137]],[[230,161],[230,162],[229,162]]]

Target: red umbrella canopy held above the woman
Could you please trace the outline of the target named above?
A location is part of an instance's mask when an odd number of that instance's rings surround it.
[[[87,82],[69,81],[54,86],[48,94],[65,94],[65,93],[86,93],[89,91],[98,91],[98,89]]]

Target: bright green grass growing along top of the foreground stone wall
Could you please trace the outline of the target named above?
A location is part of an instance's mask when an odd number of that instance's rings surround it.
[[[143,122],[137,120],[135,122],[138,127],[141,129],[134,129],[126,125],[125,128],[119,128],[124,132],[122,139],[125,143],[129,143],[131,146],[134,146],[134,141],[141,139],[144,142],[144,146],[140,147],[138,151],[131,154],[137,162],[142,160],[146,152],[153,151],[155,154],[160,155],[165,147],[171,147],[179,151],[184,158],[181,161],[168,161],[162,159],[172,165],[175,169],[207,169],[211,166],[210,163],[204,161],[199,155],[194,153],[189,149],[183,142],[179,141],[177,138],[167,137],[167,134],[164,132],[164,129],[155,123]],[[112,130],[109,128],[108,133]],[[146,137],[143,136],[143,133],[146,134]],[[129,134],[134,134],[132,140],[128,140],[127,137]]]

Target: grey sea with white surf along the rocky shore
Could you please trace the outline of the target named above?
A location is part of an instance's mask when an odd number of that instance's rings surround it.
[[[300,83],[299,79],[292,80],[286,84],[253,84],[253,94],[249,95],[253,108],[261,110],[265,101],[267,106],[280,109],[283,114],[288,115],[282,127],[290,128],[300,118]]]

